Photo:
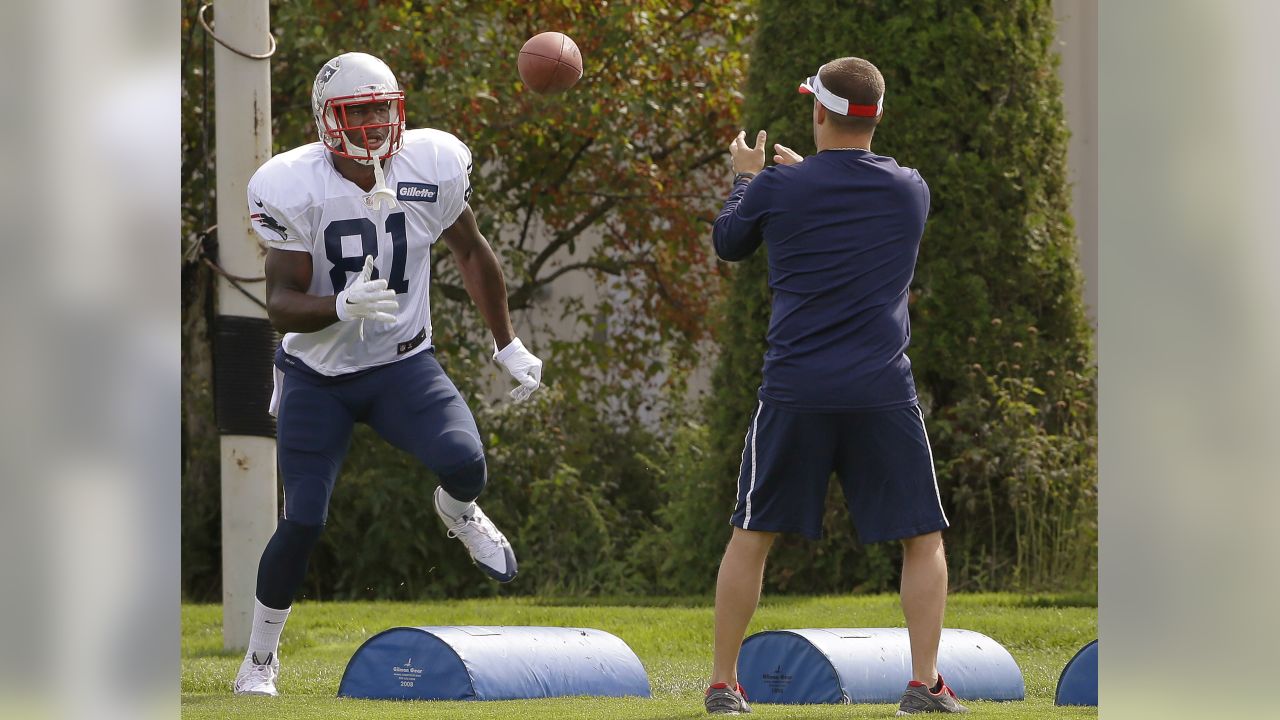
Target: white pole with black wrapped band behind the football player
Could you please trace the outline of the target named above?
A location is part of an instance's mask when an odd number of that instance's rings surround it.
[[[269,44],[268,0],[218,3],[214,29],[233,47],[264,53]],[[218,261],[233,275],[259,277],[265,251],[250,228],[246,186],[253,170],[271,156],[270,61],[237,55],[215,42],[214,82]],[[265,299],[262,283],[241,283],[241,287],[259,300]],[[243,420],[224,413],[228,404],[248,407],[259,402],[265,416],[268,397],[246,396],[261,395],[262,380],[271,374],[270,361],[261,359],[260,351],[247,352],[243,346],[246,341],[255,345],[253,338],[247,337],[255,332],[259,336],[256,345],[262,345],[266,311],[227,278],[219,277],[218,313],[215,365],[221,364],[225,369],[230,365],[227,360],[234,360],[234,377],[225,370],[218,372],[216,388],[218,424],[223,433],[223,647],[233,650],[248,644],[257,561],[275,532],[275,438],[274,432],[246,430]],[[244,328],[256,331],[246,333]],[[270,334],[269,328],[266,333]],[[253,357],[248,364],[242,361],[247,356]],[[259,420],[257,427],[273,428],[269,421]]]

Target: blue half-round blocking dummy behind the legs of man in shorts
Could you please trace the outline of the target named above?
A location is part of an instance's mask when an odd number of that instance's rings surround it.
[[[938,671],[960,700],[1023,700],[1023,671],[1000,643],[942,630]],[[911,680],[905,628],[810,628],[742,643],[739,683],[760,703],[897,702]]]

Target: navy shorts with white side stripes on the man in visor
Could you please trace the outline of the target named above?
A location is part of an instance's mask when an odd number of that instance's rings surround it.
[[[748,427],[730,521],[745,530],[818,539],[832,473],[864,543],[947,527],[919,405],[804,413],[765,401]]]

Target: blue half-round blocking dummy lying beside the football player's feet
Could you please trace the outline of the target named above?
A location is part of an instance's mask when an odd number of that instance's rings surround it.
[[[529,700],[650,697],[625,642],[585,628],[392,628],[356,650],[339,697]]]

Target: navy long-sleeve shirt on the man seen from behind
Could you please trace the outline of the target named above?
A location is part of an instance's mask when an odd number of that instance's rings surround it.
[[[716,254],[742,260],[768,246],[760,400],[818,411],[916,401],[906,301],[928,213],[920,173],[864,150],[826,150],[733,187]]]

